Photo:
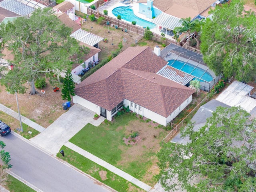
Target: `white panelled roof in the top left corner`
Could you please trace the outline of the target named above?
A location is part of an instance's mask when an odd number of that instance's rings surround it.
[[[0,7],[5,8],[21,16],[28,15],[35,10],[34,8],[21,2],[18,2],[17,0],[4,0],[0,2]]]

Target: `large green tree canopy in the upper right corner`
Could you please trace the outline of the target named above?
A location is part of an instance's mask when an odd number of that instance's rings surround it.
[[[206,19],[200,37],[204,62],[216,74],[256,80],[256,16],[242,1],[216,6]]]

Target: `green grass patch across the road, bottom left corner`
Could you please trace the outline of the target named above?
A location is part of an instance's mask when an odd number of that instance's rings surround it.
[[[8,175],[7,186],[10,192],[35,192],[35,190],[11,175]]]

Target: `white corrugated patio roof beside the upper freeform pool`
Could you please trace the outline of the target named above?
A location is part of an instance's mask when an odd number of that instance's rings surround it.
[[[175,27],[182,26],[182,24],[180,23],[180,18],[174,17],[166,13],[161,13],[159,16],[154,18],[151,22],[171,30],[173,30]]]

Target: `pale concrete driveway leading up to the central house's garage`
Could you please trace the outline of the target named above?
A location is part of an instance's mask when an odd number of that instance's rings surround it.
[[[94,120],[94,115],[95,112],[79,104],[74,104],[48,128],[30,140],[39,147],[49,151],[50,154],[55,155],[86,124],[90,123],[94,126],[99,126],[104,121],[103,117]]]

